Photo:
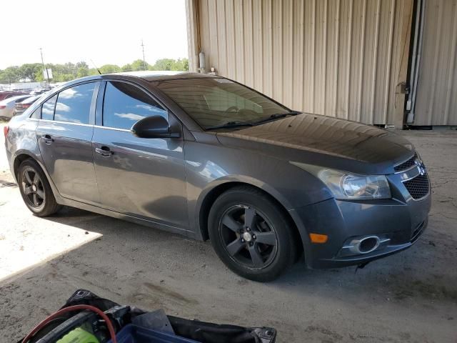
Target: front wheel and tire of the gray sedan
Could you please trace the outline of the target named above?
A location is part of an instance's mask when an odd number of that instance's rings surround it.
[[[277,279],[297,256],[296,234],[278,204],[253,187],[235,187],[216,199],[209,238],[236,274],[258,282]]]

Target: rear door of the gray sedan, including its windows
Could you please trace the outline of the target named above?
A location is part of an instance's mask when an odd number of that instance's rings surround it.
[[[36,129],[44,164],[62,197],[99,204],[92,134],[99,82],[64,89],[41,106]]]

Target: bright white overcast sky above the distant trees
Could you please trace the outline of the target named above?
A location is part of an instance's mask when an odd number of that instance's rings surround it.
[[[187,57],[184,0],[2,1],[0,69],[86,61],[122,66]]]

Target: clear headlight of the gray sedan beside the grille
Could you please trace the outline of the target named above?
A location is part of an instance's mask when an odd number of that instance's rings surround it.
[[[383,175],[354,175],[323,169],[317,177],[327,185],[336,199],[389,199],[391,189]]]

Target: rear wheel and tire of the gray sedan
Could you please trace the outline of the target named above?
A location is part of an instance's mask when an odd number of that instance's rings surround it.
[[[61,209],[46,175],[33,159],[21,163],[17,181],[26,207],[37,216],[47,217]]]

